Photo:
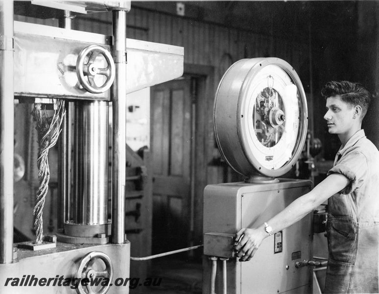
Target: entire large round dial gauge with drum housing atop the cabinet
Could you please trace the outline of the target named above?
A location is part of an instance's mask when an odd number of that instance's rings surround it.
[[[224,160],[238,173],[278,177],[303,149],[307,101],[299,76],[279,58],[242,59],[222,77],[214,131]]]

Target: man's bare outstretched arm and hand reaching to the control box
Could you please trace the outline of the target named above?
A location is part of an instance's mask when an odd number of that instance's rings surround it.
[[[289,204],[284,210],[268,220],[267,223],[272,227],[273,233],[279,232],[296,221],[300,221],[329,197],[344,189],[349,183],[349,179],[344,175],[333,173],[314,187],[312,191]],[[268,234],[263,224],[257,228],[242,228],[239,230],[236,234],[238,243],[233,248],[238,252],[239,260],[249,261],[266,237],[268,237]]]

